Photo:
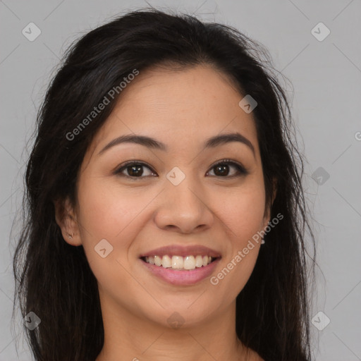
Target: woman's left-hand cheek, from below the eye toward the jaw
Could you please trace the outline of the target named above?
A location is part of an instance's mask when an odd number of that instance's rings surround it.
[[[84,178],[87,181],[80,185],[78,192],[82,246],[99,289],[116,298],[119,285],[123,288],[132,285],[126,271],[128,250],[139,233],[137,222],[142,219],[141,211],[149,200],[143,202],[138,195],[135,202],[136,195],[133,197],[116,187],[104,187],[101,178]],[[98,247],[101,240],[106,257],[97,252],[101,249]]]

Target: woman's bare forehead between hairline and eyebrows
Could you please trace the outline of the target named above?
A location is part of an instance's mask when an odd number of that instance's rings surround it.
[[[157,137],[178,151],[220,133],[239,132],[257,147],[252,114],[238,105],[242,98],[231,79],[210,66],[140,72],[122,90],[93,149],[130,133]]]

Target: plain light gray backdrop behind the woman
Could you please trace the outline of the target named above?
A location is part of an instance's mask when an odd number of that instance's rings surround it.
[[[302,135],[301,150],[308,159],[305,187],[317,238],[312,317],[322,311],[331,320],[322,331],[312,326],[314,360],[361,360],[361,1],[149,4],[237,27],[269,49],[276,68],[292,83],[293,89],[288,85],[287,90]],[[124,0],[0,1],[0,360],[31,359],[19,334],[19,312],[16,329],[11,329],[11,255],[20,229],[15,224],[11,234],[11,226],[21,210],[25,145],[49,77],[73,39],[117,13],[144,6],[145,1]],[[41,30],[33,42],[22,34],[30,22]],[[319,22],[331,31],[321,42],[311,32]],[[316,31],[325,34],[317,27]],[[322,317],[316,317],[315,324],[324,324]]]

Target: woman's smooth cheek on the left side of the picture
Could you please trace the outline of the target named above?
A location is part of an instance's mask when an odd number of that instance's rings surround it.
[[[130,247],[142,231],[145,217],[149,217],[147,204],[156,195],[157,192],[144,192],[140,188],[125,190],[106,184],[104,178],[84,175],[78,190],[78,219],[82,245],[97,279],[108,282],[109,274],[119,274],[121,264],[128,264]],[[94,249],[104,239],[112,247],[106,258]],[[111,267],[115,267],[116,272]]]

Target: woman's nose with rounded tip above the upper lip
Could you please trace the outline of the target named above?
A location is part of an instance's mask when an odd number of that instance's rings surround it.
[[[185,177],[178,185],[167,181],[159,198],[155,223],[161,229],[178,233],[194,233],[212,227],[214,214],[204,194],[199,181],[191,181],[190,177]]]

